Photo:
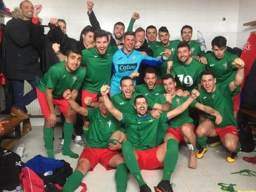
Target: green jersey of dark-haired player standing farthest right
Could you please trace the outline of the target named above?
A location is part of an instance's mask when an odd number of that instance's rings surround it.
[[[214,72],[217,84],[229,84],[235,79],[237,68],[232,65],[232,62],[238,57],[237,55],[225,51],[221,60],[217,60],[213,52],[205,57],[208,62],[205,68]]]

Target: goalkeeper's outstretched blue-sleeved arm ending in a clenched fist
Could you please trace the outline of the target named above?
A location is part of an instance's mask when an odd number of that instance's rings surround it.
[[[172,52],[170,49],[165,49],[163,54],[164,55],[161,58],[154,58],[154,57],[149,57],[147,55],[143,55],[140,63],[144,63],[150,66],[159,66],[171,56]]]

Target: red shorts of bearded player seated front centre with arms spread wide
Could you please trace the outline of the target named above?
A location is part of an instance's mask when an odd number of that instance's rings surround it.
[[[159,162],[157,159],[157,150],[160,146],[161,145],[159,145],[157,148],[149,149],[146,151],[136,150],[140,170],[154,170],[163,166],[163,163]]]

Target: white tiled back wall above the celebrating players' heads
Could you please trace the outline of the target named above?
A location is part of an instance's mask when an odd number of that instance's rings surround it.
[[[21,0],[4,0],[7,7],[18,6]],[[42,4],[39,16],[46,25],[51,17],[63,18],[67,22],[67,34],[78,39],[80,31],[90,25],[86,0],[31,0]],[[244,0],[241,0],[244,1]],[[255,1],[255,0],[252,0]],[[133,12],[140,14],[134,27],[166,26],[171,39],[180,39],[184,25],[193,27],[193,39],[200,30],[205,36],[207,48],[217,35],[227,38],[228,46],[236,46],[239,0],[94,0],[94,12],[102,29],[112,31],[117,21],[128,27]],[[225,21],[222,18],[226,18]]]

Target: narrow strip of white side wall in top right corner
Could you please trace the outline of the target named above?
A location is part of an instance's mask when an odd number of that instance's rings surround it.
[[[243,23],[256,20],[256,0],[240,0],[239,17],[237,26],[237,47],[243,48],[251,31],[256,31],[256,26],[243,26]]]

